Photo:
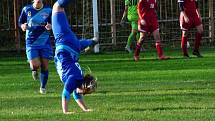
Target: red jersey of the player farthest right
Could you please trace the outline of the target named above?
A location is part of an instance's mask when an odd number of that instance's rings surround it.
[[[178,0],[178,2],[182,2],[184,4],[185,13],[188,12],[196,12],[196,2],[197,0]]]

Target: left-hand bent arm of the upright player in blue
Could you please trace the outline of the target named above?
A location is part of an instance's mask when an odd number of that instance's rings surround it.
[[[25,12],[26,7],[22,9],[22,12],[19,16],[18,25],[22,29],[22,31],[26,31],[27,29],[27,15]]]

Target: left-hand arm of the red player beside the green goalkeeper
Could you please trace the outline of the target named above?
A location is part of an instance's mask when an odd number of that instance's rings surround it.
[[[138,16],[139,16],[139,19],[140,19],[140,23],[142,25],[145,25],[146,22],[144,20],[144,17],[145,17],[145,14],[146,14],[146,8],[144,8],[144,0],[139,0],[137,11],[138,11]]]

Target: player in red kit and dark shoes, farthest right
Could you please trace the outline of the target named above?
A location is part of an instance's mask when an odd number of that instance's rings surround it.
[[[182,29],[182,39],[181,48],[183,55],[189,58],[187,51],[187,41],[188,41],[188,30],[191,28],[196,28],[196,38],[194,42],[193,55],[197,57],[203,57],[199,53],[200,42],[202,40],[203,25],[201,21],[200,12],[198,9],[197,0],[178,0],[180,8],[180,26]]]

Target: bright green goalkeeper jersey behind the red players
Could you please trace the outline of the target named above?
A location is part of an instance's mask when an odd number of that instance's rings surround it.
[[[137,4],[138,0],[125,0],[125,5],[128,6],[127,18],[129,21],[137,21],[139,18],[137,12]]]

